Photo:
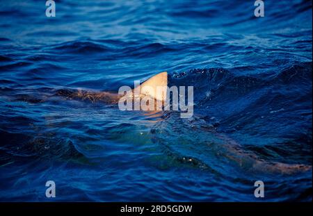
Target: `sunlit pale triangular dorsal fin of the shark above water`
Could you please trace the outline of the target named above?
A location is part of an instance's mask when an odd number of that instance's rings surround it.
[[[166,100],[166,90],[168,86],[168,72],[161,72],[152,76],[144,83],[141,83],[141,94],[150,95],[150,97],[159,101]],[[159,90],[157,88],[159,87]],[[163,92],[160,89],[163,88]]]

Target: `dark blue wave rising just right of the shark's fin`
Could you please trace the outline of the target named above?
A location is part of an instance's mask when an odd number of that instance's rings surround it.
[[[191,69],[188,72],[174,72],[169,77],[169,83],[193,85],[196,106],[199,108],[247,99],[259,103],[262,109],[262,101],[256,101],[261,98],[267,106],[276,107],[289,98],[296,101],[303,97],[305,101],[311,101],[312,62],[292,65],[275,74],[240,75],[232,72],[232,69]]]

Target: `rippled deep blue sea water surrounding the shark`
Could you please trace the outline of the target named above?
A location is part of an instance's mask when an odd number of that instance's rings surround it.
[[[0,201],[311,201],[312,1],[253,4],[0,0]],[[163,71],[191,119],[57,94]]]

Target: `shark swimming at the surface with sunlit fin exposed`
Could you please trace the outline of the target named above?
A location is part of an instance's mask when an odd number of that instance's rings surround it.
[[[157,88],[163,88],[165,92],[157,91]],[[161,101],[163,106],[166,106],[166,99],[168,97],[168,72],[161,72],[148,78],[146,81],[136,86],[134,89],[129,89],[126,94],[119,94],[118,92],[90,92],[86,90],[68,91],[61,90],[58,94],[61,94],[71,99],[88,99],[90,101],[104,101],[105,103],[118,103],[122,97],[135,100],[136,97],[146,97],[147,95],[156,101]],[[125,92],[124,92],[125,93]],[[192,119],[199,119],[200,117],[193,117]],[[163,119],[166,121],[166,118]],[[178,119],[177,119],[178,122]],[[188,122],[188,121],[187,121]],[[177,123],[178,124],[178,123]],[[190,121],[188,124],[182,127],[188,128],[190,126]],[[193,130],[194,128],[190,128]],[[187,129],[189,130],[189,129]],[[259,172],[270,172],[275,174],[294,174],[296,172],[306,172],[312,169],[311,165],[303,164],[288,164],[288,163],[278,163],[266,161],[259,156],[257,153],[245,150],[241,144],[232,140],[225,134],[218,133],[216,130],[209,130],[216,138],[223,140],[223,149],[225,149],[224,156],[228,158],[233,163],[239,165],[239,167],[249,167],[254,171]],[[200,133],[200,132],[199,132]],[[175,134],[172,134],[175,135]]]

